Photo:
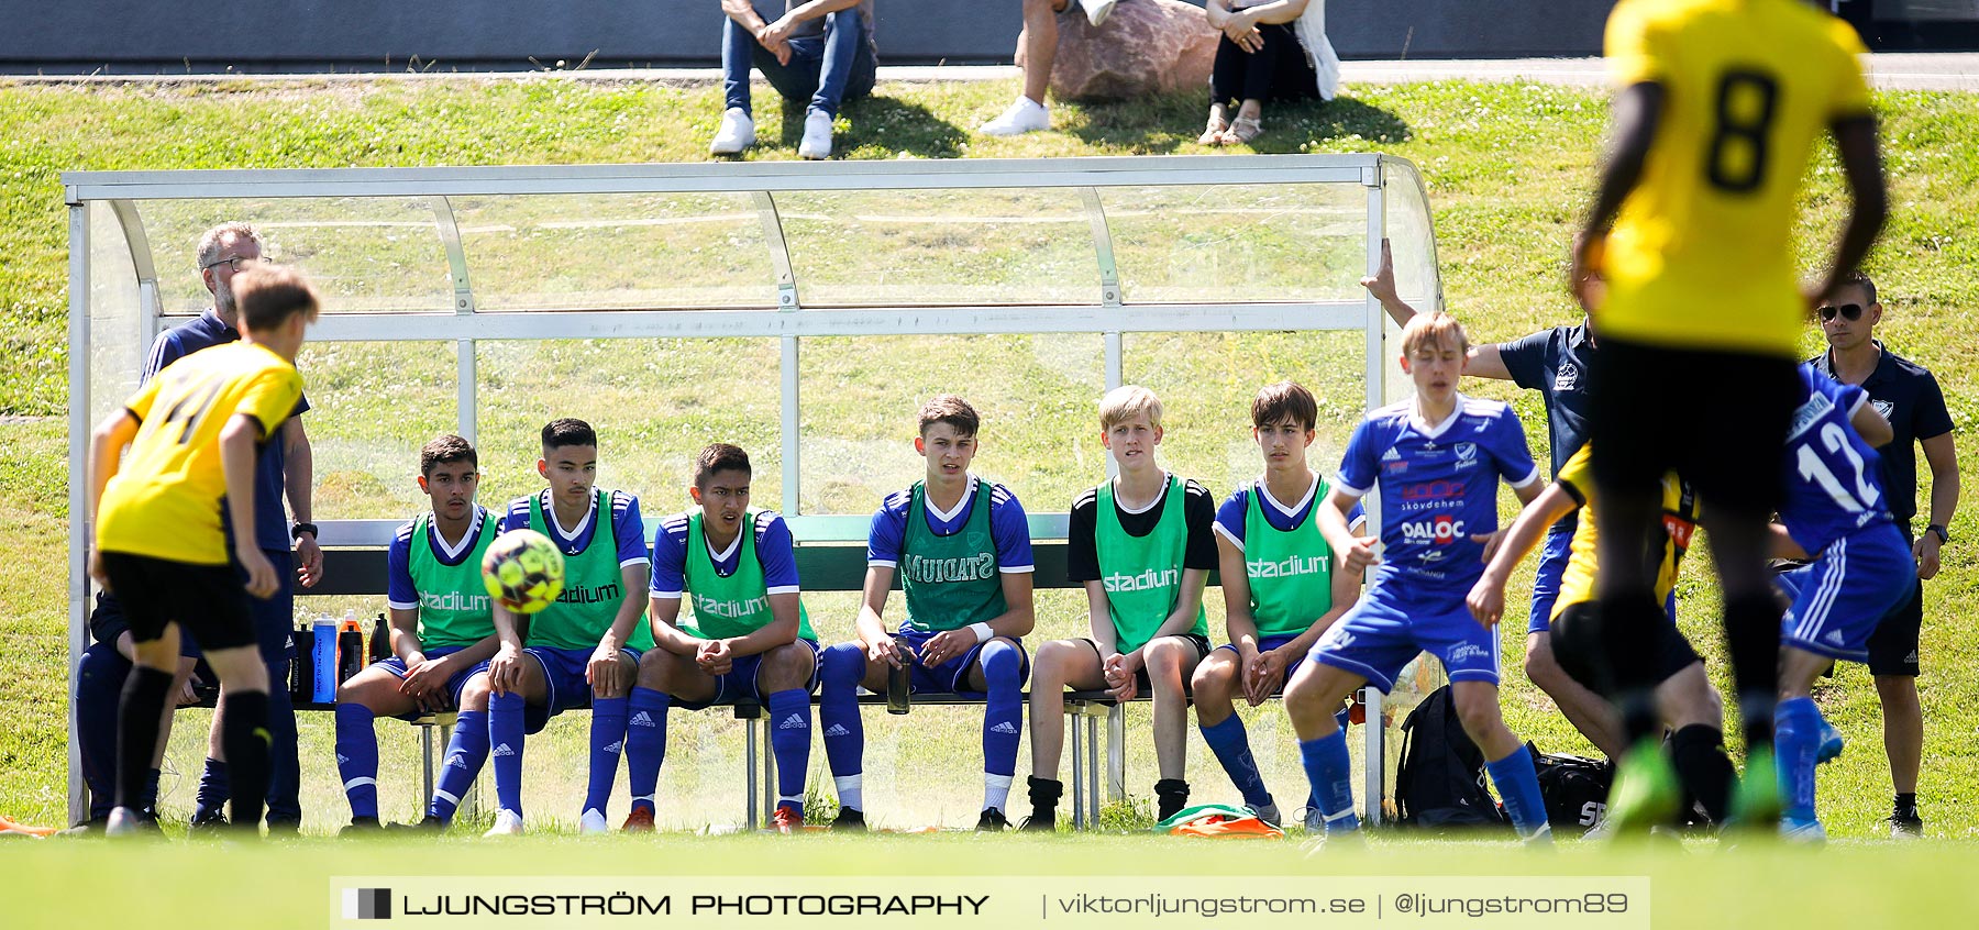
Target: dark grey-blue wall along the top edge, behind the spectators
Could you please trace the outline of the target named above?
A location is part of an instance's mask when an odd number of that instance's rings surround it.
[[[1124,0],[1138,2],[1138,0]],[[760,10],[778,0],[756,0]],[[1346,57],[1595,55],[1613,0],[1334,2]],[[881,61],[1009,61],[1019,0],[877,0]],[[714,65],[718,0],[0,0],[0,73]]]

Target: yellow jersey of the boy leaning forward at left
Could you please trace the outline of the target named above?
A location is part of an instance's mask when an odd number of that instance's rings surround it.
[[[194,352],[158,372],[125,404],[141,425],[97,505],[97,548],[228,564],[220,431],[247,414],[271,437],[301,396],[295,366],[253,342]]]

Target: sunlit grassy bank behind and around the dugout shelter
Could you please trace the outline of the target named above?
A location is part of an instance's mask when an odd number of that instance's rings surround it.
[[[1009,85],[997,83],[881,87],[879,97],[847,107],[839,150],[851,158],[1199,150],[1191,140],[1193,127],[1199,127],[1199,103],[1189,97],[1063,107],[1055,133],[1015,140],[970,137],[966,129],[1001,109],[1009,91]],[[1979,396],[1967,350],[1979,336],[1979,325],[1967,313],[1979,305],[1979,283],[1969,273],[1979,261],[1979,220],[1969,208],[1979,202],[1979,99],[1892,93],[1880,95],[1878,105],[1894,204],[1892,226],[1870,261],[1890,307],[1882,334],[1892,348],[1937,372],[1963,445],[1975,414],[1973,398]],[[10,558],[0,562],[0,706],[8,712],[0,728],[0,813],[44,823],[63,813],[65,700],[61,675],[51,671],[61,667],[65,655],[67,435],[61,414],[67,295],[59,170],[699,160],[716,115],[718,93],[712,89],[564,81],[0,85],[0,121],[32,127],[0,142],[0,220],[10,228],[10,237],[0,241],[0,352],[10,362],[0,370],[0,414],[12,416],[0,425],[0,524],[10,528]],[[796,121],[780,117],[774,107],[762,107],[760,119],[766,146],[754,156],[792,158]],[[1447,301],[1466,319],[1474,338],[1502,340],[1575,317],[1559,281],[1569,224],[1591,180],[1601,119],[1601,95],[1581,89],[1516,83],[1356,87],[1352,97],[1326,107],[1276,109],[1255,148],[1383,150],[1415,160],[1431,186]],[[1813,172],[1807,206],[1811,222],[1803,253],[1813,263],[1825,230],[1835,228],[1840,210],[1829,158]],[[190,253],[186,237],[216,220],[180,218],[172,230],[184,241],[160,249]],[[1817,230],[1823,233],[1815,235]],[[277,253],[287,247],[297,257],[321,255],[329,247],[303,235],[277,233]],[[590,239],[554,243],[564,253],[612,247],[610,241]],[[515,243],[489,243],[497,255],[509,245]],[[1015,253],[1019,247],[991,243],[991,251]],[[513,255],[513,261],[522,261],[534,253],[515,245]],[[352,263],[358,259],[352,257]],[[303,261],[307,267],[309,259]],[[190,259],[180,263],[190,267]],[[522,273],[513,265],[511,271]],[[1181,281],[1205,287],[1172,269],[1162,275],[1152,285]],[[188,307],[198,299],[192,273],[166,271],[164,277],[170,307]],[[1253,283],[1241,275],[1223,285],[1233,293],[1255,293],[1247,291]],[[368,293],[360,283],[338,287],[338,297],[348,301],[364,301]],[[418,505],[404,477],[412,451],[453,421],[451,352],[437,348],[342,344],[309,350],[303,368],[317,404],[309,423],[317,443],[321,516],[396,516]],[[762,449],[758,469],[764,481],[756,491],[776,501],[776,398],[774,384],[766,388],[760,370],[774,364],[774,350],[768,340],[485,348],[481,376],[489,390],[483,394],[481,429],[489,487],[483,501],[497,503],[532,487],[526,471],[526,461],[534,457],[532,431],[550,416],[598,421],[608,435],[602,481],[641,493],[651,514],[683,505],[685,495],[673,489],[685,485],[687,455],[716,435]],[[1168,400],[1166,459],[1223,493],[1257,471],[1241,412],[1251,392],[1269,380],[1298,378],[1322,394],[1322,441],[1314,461],[1322,467],[1338,461],[1340,443],[1358,418],[1354,352],[1350,340],[1304,334],[1138,336],[1128,340],[1126,374]],[[904,366],[902,360],[914,364]],[[869,340],[857,346],[807,340],[805,378],[839,386],[807,398],[803,443],[809,471],[803,493],[805,507],[817,512],[869,511],[879,493],[910,481],[918,459],[906,447],[912,431],[908,412],[926,394],[958,386],[986,414],[980,471],[1011,483],[1031,511],[1067,509],[1073,495],[1102,473],[1100,451],[1090,439],[1090,410],[1104,384],[1098,336]],[[1544,453],[1544,412],[1536,396],[1486,382],[1468,382],[1466,392],[1512,400],[1526,418],[1536,453]],[[722,404],[710,398],[722,398]],[[1023,429],[1011,423],[1023,423]],[[1963,473],[1971,485],[1971,455]],[[1973,526],[1979,524],[1961,516],[1953,534],[1973,538]],[[1682,613],[1692,639],[1716,657],[1720,649],[1708,615],[1716,596],[1700,576],[1694,572],[1682,588]],[[1514,582],[1514,596],[1524,584]],[[1928,742],[1920,799],[1932,835],[1973,837],[1979,825],[1979,750],[1973,746],[1979,730],[1979,712],[1973,710],[1979,706],[1979,657],[1965,643],[1971,639],[1967,617],[1979,607],[1979,586],[1967,546],[1947,548],[1945,572],[1926,592],[1932,619],[1924,641]],[[849,633],[849,598],[823,596],[809,604],[813,617],[821,617],[823,637]],[[1215,611],[1215,598],[1211,604]],[[364,613],[380,609],[374,604],[352,605]],[[344,604],[327,607],[340,613]],[[1039,617],[1039,639],[1077,635],[1084,625],[1079,602],[1063,592],[1041,598]],[[1221,627],[1213,621],[1213,629]],[[1520,633],[1506,637],[1508,657],[1522,653]],[[1722,663],[1714,661],[1714,667],[1722,671]],[[1888,807],[1888,774],[1874,689],[1862,669],[1844,669],[1821,700],[1850,740],[1846,756],[1823,770],[1823,813],[1831,835],[1876,835],[1876,819]],[[1506,704],[1512,726],[1542,748],[1587,752],[1544,695],[1512,669]],[[681,732],[661,791],[679,801],[677,825],[720,823],[726,819],[720,811],[732,809],[740,795],[740,738],[734,724],[718,714],[679,714],[677,720]],[[893,823],[898,825],[964,823],[978,801],[974,762],[952,760],[952,746],[968,746],[966,754],[974,754],[974,720],[966,714],[928,720],[934,726],[914,732],[875,726],[875,772],[891,766],[898,778],[875,778],[871,790],[875,805],[893,805]],[[1144,716],[1138,720],[1144,722]],[[1261,708],[1251,724],[1261,768],[1280,799],[1302,795],[1282,712]],[[188,714],[174,740],[168,811],[190,803],[204,742],[200,730],[204,716]],[[410,740],[394,728],[382,732],[388,734],[388,770],[406,766]],[[580,790],[580,740],[582,720],[562,722],[544,740],[544,752],[530,756],[534,809],[564,817],[574,813],[558,811],[572,803],[550,803],[546,797],[564,799]],[[687,746],[691,754],[683,750]],[[1152,762],[1146,740],[1134,746],[1128,788],[1144,793]],[[327,718],[305,724],[303,752],[311,772],[305,793],[309,829],[323,831],[342,817],[329,766]],[[819,774],[821,754],[813,760],[813,786]],[[1227,799],[1227,782],[1201,744],[1191,746],[1189,778],[1199,799]],[[386,791],[388,815],[412,813],[410,791],[402,784]],[[896,793],[889,797],[887,791]],[[720,811],[712,811],[714,805]],[[819,843],[819,849],[825,845]],[[900,849],[914,855],[916,847]],[[305,863],[330,855],[336,853],[327,847],[297,847]],[[1912,869],[1910,859],[1888,863],[1904,869],[1906,877],[1945,875],[1935,865]],[[1672,869],[1710,873],[1690,865]],[[1698,881],[1720,879],[1702,875]],[[1840,890],[1848,884],[1817,886]]]

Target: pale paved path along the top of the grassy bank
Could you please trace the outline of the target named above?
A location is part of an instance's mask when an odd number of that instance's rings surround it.
[[[1979,91],[1979,53],[1967,51],[1890,51],[1870,55],[1870,81],[1888,91]],[[1017,77],[1015,65],[898,65],[881,67],[881,81],[1007,81]],[[1542,81],[1593,87],[1603,83],[1599,57],[1512,57],[1466,61],[1348,61],[1340,69],[1346,83],[1405,83],[1405,81]],[[307,75],[18,75],[0,83],[344,83],[344,81],[600,81],[600,83],[663,83],[705,87],[720,81],[714,67],[651,67],[598,71],[427,71],[427,73],[307,73]]]

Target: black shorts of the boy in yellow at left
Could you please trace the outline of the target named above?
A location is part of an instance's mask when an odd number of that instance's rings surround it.
[[[255,645],[247,590],[234,566],[103,552],[103,570],[137,643],[162,637],[166,623],[176,621],[210,653]]]

